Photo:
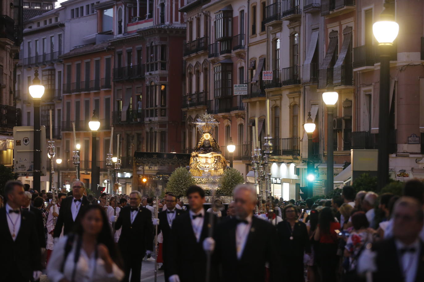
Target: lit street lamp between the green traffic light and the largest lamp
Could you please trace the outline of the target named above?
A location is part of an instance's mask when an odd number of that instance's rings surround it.
[[[326,195],[334,189],[334,153],[333,153],[333,118],[334,105],[339,98],[339,93],[334,91],[332,83],[327,85],[326,92],[322,93],[322,99],[327,106],[327,185]]]

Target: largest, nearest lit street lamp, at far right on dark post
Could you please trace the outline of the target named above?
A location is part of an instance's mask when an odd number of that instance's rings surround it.
[[[399,33],[399,25],[394,21],[393,4],[386,0],[380,20],[372,29],[380,50],[380,90],[379,90],[379,122],[378,122],[378,168],[377,189],[380,191],[388,183],[389,175],[389,95],[390,95],[390,54],[393,41]]]

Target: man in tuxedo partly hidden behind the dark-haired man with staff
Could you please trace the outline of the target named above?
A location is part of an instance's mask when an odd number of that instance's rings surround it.
[[[165,268],[165,281],[168,281],[169,277],[169,260],[172,257],[172,242],[171,242],[171,227],[174,219],[176,219],[181,214],[184,214],[184,211],[176,208],[177,197],[168,193],[165,197],[166,200],[166,210],[161,211],[158,215],[159,218],[159,226],[158,226],[158,234],[162,231],[162,257],[163,257],[163,265]]]

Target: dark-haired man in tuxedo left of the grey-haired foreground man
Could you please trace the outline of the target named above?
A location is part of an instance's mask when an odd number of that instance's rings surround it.
[[[206,278],[206,252],[202,244],[216,216],[205,212],[204,190],[196,185],[187,189],[190,211],[181,214],[172,224],[173,257],[169,266],[170,282],[202,282]],[[184,253],[184,258],[177,254]],[[213,279],[210,281],[214,281]]]

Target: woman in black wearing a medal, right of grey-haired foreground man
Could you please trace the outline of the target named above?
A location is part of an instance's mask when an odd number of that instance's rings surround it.
[[[277,225],[282,277],[290,282],[303,282],[303,255],[311,252],[308,231],[306,225],[297,220],[294,205],[286,205],[282,215],[284,220]]]

